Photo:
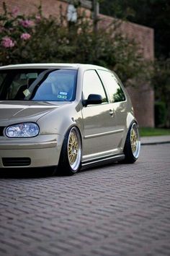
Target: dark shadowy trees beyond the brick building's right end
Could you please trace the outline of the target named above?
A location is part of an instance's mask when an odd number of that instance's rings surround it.
[[[155,89],[156,109],[161,109],[157,104],[163,101],[167,109],[164,126],[170,127],[170,2],[167,0],[100,0],[100,12],[154,28],[157,60],[154,68],[148,69],[148,74],[152,73],[151,85]],[[156,110],[156,124],[157,114]]]

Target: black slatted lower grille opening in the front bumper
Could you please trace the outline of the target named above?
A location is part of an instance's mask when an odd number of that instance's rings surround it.
[[[30,166],[30,158],[2,158],[2,163],[4,166]]]

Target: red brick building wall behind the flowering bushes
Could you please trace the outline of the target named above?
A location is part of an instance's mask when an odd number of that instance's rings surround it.
[[[77,18],[76,8],[69,0],[5,0],[6,6],[9,10],[18,7],[23,14],[32,14],[37,12],[37,7],[42,4],[42,13],[48,17],[58,17],[62,10],[67,14],[68,20],[75,21]],[[86,11],[88,17],[91,16],[91,1],[81,0],[81,8]],[[3,12],[2,4],[0,5],[0,12]],[[113,18],[98,14],[100,25],[108,27],[112,23]],[[138,25],[132,22],[122,22],[122,33],[128,35],[129,38],[135,38],[142,48],[143,58],[153,61],[154,59],[154,43],[153,43],[153,29]],[[141,84],[137,88],[127,88],[130,97],[135,106],[135,116],[138,119],[140,127],[154,127],[154,92],[153,89],[145,84]]]

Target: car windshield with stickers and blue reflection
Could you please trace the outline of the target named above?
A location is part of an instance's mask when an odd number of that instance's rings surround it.
[[[1,101],[73,101],[77,70],[0,70]]]

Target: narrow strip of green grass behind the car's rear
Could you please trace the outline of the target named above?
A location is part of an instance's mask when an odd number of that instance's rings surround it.
[[[139,128],[140,137],[170,135],[170,129],[163,128]]]

